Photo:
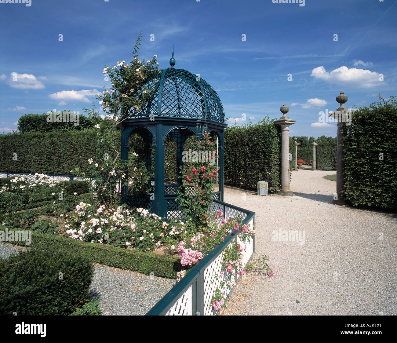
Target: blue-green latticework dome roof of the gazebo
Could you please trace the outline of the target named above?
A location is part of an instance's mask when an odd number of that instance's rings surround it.
[[[225,122],[222,102],[216,91],[202,78],[185,69],[166,68],[148,81],[155,88],[145,109],[132,118],[177,117]]]

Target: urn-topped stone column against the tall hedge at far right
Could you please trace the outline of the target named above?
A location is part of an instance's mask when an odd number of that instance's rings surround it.
[[[336,97],[336,101],[339,102],[340,106],[335,112],[331,112],[329,115],[331,118],[337,120],[337,148],[336,148],[336,200],[333,200],[334,204],[344,205],[345,200],[342,199],[343,189],[343,127],[345,122],[345,115],[349,110],[345,107],[345,102],[349,99],[344,92],[340,92],[340,95]]]

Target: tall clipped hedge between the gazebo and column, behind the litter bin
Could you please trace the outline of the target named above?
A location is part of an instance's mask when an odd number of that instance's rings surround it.
[[[224,182],[256,189],[267,181],[270,193],[280,187],[279,131],[269,117],[258,123],[229,126],[224,131]]]

